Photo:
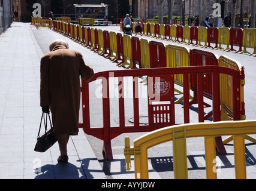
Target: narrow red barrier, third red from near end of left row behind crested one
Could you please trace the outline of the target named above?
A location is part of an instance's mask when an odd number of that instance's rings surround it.
[[[132,68],[133,69],[137,68],[136,64],[138,64],[139,68],[141,68],[140,39],[138,37],[132,36],[131,51],[132,51],[132,63],[133,63]]]

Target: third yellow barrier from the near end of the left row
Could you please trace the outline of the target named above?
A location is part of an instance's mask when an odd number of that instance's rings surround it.
[[[140,39],[140,53],[141,53],[141,67],[150,68],[150,50],[149,41],[147,39]]]

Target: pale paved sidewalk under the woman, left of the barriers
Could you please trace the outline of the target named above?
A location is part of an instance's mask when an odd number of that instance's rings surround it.
[[[41,50],[33,27],[13,23],[0,35],[0,178],[106,178],[83,130],[68,143],[66,165],[57,162],[58,143],[45,153],[34,152],[41,118],[40,59],[46,48]],[[53,39],[42,40],[48,47]]]

